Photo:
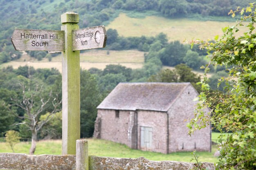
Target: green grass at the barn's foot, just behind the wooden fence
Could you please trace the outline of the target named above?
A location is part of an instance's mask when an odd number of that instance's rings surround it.
[[[215,139],[219,133],[212,133],[212,137]],[[213,139],[212,138],[212,139]],[[89,155],[105,156],[105,157],[126,157],[137,158],[145,157],[150,160],[163,161],[186,161],[190,162],[193,155],[191,152],[177,152],[170,154],[162,154],[155,152],[145,152],[141,150],[134,150],[128,148],[124,144],[118,144],[115,142],[106,141],[103,139],[87,139],[88,140],[88,152]],[[16,153],[28,153],[30,142],[20,142],[15,145],[14,150]],[[216,152],[217,146],[212,146],[212,152],[197,152],[200,156],[200,161],[216,162],[217,158],[213,157]],[[0,153],[12,152],[11,148],[5,142],[0,142]],[[41,140],[37,142],[36,155],[40,154],[61,154],[61,140]]]

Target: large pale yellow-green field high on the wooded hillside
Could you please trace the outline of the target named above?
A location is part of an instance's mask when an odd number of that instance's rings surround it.
[[[214,39],[216,35],[222,35],[222,28],[233,26],[234,22],[193,21],[189,19],[167,19],[159,16],[147,16],[145,18],[128,17],[121,13],[114,21],[106,26],[116,29],[118,34],[124,37],[155,36],[165,33],[170,41],[201,38]],[[241,31],[245,31],[241,29]]]

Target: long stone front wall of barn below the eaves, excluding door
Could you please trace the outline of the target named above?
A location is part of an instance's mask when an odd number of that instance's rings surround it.
[[[116,111],[98,109],[94,137],[126,144],[130,148],[167,153],[167,113],[159,111]],[[151,148],[141,148],[141,127],[152,128]],[[97,134],[97,135],[96,135]]]

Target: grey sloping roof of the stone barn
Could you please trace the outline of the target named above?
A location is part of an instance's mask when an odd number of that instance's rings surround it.
[[[119,83],[97,109],[168,111],[190,83]]]

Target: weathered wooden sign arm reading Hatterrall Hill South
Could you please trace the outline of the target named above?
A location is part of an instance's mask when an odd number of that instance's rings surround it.
[[[18,51],[64,51],[64,31],[15,29],[11,42]]]

